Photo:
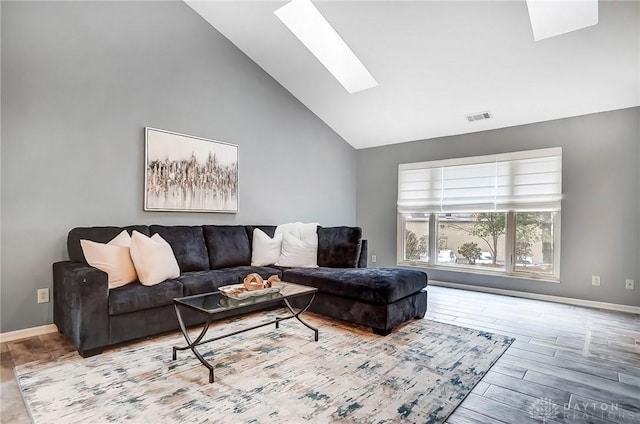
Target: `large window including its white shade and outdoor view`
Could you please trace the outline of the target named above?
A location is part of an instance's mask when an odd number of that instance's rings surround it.
[[[400,165],[398,263],[557,280],[561,163],[552,148]]]

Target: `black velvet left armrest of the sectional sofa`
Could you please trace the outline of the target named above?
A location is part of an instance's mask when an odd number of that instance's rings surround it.
[[[79,262],[53,264],[53,322],[82,356],[109,344],[107,274]]]

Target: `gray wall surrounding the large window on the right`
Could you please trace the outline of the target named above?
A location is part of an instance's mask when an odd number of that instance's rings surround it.
[[[640,306],[639,122],[640,108],[631,108],[359,150],[356,222],[376,265],[395,265],[398,164],[560,146],[561,283],[436,269],[429,278]]]

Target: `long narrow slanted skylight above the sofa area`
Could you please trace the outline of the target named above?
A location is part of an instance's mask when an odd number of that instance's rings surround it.
[[[311,0],[293,0],[274,13],[349,93],[378,85]]]

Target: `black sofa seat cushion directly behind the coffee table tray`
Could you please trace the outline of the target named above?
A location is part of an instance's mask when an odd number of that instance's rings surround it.
[[[282,272],[274,268],[237,266],[212,271],[186,272],[179,280],[184,286],[184,295],[192,296],[216,291],[221,286],[240,284],[244,277],[253,272],[260,274],[265,280],[272,275],[282,277]]]

